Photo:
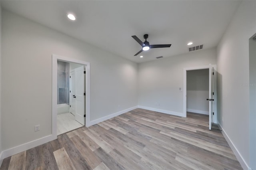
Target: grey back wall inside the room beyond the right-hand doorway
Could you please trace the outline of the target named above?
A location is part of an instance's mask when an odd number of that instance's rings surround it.
[[[187,111],[209,115],[209,69],[187,71]]]

